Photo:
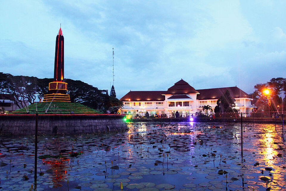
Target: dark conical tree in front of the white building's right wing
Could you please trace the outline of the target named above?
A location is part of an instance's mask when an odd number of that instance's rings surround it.
[[[230,96],[229,90],[226,90],[223,95],[217,100],[217,106],[215,107],[215,113],[236,113],[235,99]]]

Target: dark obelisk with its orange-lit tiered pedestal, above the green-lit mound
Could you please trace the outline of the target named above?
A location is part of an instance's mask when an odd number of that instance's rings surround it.
[[[44,95],[43,102],[70,102],[69,95],[66,94],[67,85],[64,82],[64,38],[63,31],[60,28],[59,34],[56,37],[54,81],[49,83],[49,91],[52,94]]]

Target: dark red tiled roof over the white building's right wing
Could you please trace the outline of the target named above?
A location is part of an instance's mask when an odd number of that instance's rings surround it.
[[[197,99],[218,99],[221,95],[223,95],[223,93],[226,92],[226,90],[229,90],[230,96],[232,98],[251,98],[251,96],[235,86],[198,90],[200,94],[197,95]]]

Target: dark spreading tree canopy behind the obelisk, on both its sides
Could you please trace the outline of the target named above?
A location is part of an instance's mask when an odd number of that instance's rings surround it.
[[[49,82],[53,78],[37,78],[29,76],[13,76],[0,73],[0,93],[9,93],[15,97],[18,107],[26,107],[32,104],[36,98],[42,99],[49,92]],[[108,96],[107,90],[99,90],[83,81],[65,79],[68,83],[68,91],[71,102],[81,103],[93,109],[102,110],[104,113],[112,106],[122,106],[122,101],[113,96]],[[25,100],[25,101],[24,101]]]

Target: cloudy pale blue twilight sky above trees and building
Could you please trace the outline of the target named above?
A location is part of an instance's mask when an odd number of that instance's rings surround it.
[[[84,3],[83,3],[84,2]],[[0,1],[0,72],[53,78],[55,37],[65,38],[65,78],[117,98],[286,77],[286,1]]]

